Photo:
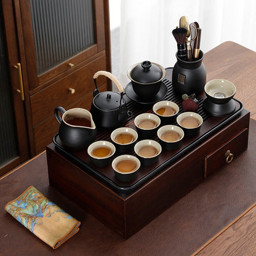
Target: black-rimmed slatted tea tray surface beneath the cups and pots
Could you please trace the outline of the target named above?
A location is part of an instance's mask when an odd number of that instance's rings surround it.
[[[167,75],[166,78],[163,80],[164,84],[167,86],[168,93],[166,97],[163,100],[170,100],[172,102],[177,103],[177,105],[180,108],[180,112],[182,113],[182,98],[177,97],[175,94],[173,88],[172,88],[172,68],[167,68]],[[61,142],[60,138],[58,137],[58,134],[56,134],[53,138],[53,142],[55,145],[56,150],[65,156],[66,159],[73,162],[76,166],[78,166],[80,169],[84,170],[84,172],[87,172],[87,174],[92,175],[92,177],[95,177],[100,182],[104,183],[106,186],[108,186],[111,190],[116,191],[119,194],[129,194],[140,188],[144,183],[148,182],[152,178],[156,177],[162,170],[165,170],[167,167],[169,167],[171,164],[173,164],[178,159],[181,159],[185,154],[190,153],[196,146],[200,145],[202,142],[207,140],[210,136],[216,134],[218,130],[225,127],[227,124],[230,124],[231,121],[236,119],[239,115],[241,115],[241,112],[243,110],[243,105],[241,102],[239,102],[236,99],[233,99],[236,103],[236,110],[225,117],[213,117],[210,116],[202,107],[202,103],[204,102],[204,99],[206,96],[203,94],[199,95],[199,110],[198,114],[201,114],[202,118],[204,119],[204,122],[201,127],[200,134],[191,137],[191,138],[183,138],[182,146],[174,151],[167,151],[162,149],[162,152],[159,156],[159,161],[157,164],[154,164],[153,166],[146,166],[141,167],[138,172],[138,177],[135,178],[132,182],[129,183],[122,183],[119,182],[114,177],[114,171],[110,166],[106,167],[96,167],[90,162],[90,158],[87,154],[87,150],[81,150],[81,151],[72,151],[68,148],[65,148],[63,143]],[[149,105],[142,105],[138,104],[129,98],[126,97],[127,107],[130,111],[132,111],[133,115],[130,116],[129,119],[127,119],[124,126],[131,127],[135,129],[134,126],[134,118],[141,113],[153,113],[152,106],[153,104]],[[179,114],[178,113],[178,114]],[[107,140],[111,142],[110,134],[112,130],[98,130],[97,138],[96,140]],[[140,138],[138,138],[140,139]],[[153,140],[156,140],[159,142],[158,137],[151,138]],[[134,151],[130,152],[130,154],[135,155]],[[116,156],[119,154],[116,153]]]

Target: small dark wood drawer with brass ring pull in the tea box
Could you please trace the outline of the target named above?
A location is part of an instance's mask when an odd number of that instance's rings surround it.
[[[228,142],[223,143],[219,148],[204,158],[204,178],[207,178],[223,164],[230,164],[238,154],[246,150],[249,129],[245,128],[234,135]]]

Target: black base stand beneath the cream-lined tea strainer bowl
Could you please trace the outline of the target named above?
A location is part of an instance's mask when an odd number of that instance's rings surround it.
[[[236,102],[233,99],[224,104],[217,104],[206,98],[203,106],[212,116],[226,116],[236,110]]]

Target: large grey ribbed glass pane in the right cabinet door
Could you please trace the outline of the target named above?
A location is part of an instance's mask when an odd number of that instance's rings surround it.
[[[95,44],[92,0],[30,0],[38,75]]]

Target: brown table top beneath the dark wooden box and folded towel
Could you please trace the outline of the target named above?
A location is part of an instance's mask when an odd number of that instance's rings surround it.
[[[235,98],[244,103],[256,119],[255,97],[252,96],[256,52],[225,42],[205,54],[204,64],[207,81],[223,78],[234,82]],[[252,119],[247,151],[127,240],[49,185],[44,152],[0,178],[0,255],[236,255],[232,254],[236,249],[241,252],[237,255],[246,255],[243,252],[255,249],[255,234],[250,231],[255,229],[252,214],[256,210],[255,207],[249,209],[256,201],[255,150],[256,121]],[[81,221],[78,234],[56,250],[4,210],[7,202],[30,185]],[[252,239],[243,242],[242,236],[247,231],[247,236],[253,234]],[[218,254],[213,250],[217,247]]]

